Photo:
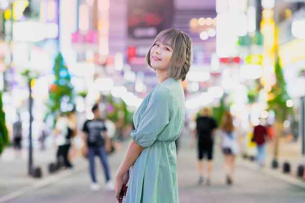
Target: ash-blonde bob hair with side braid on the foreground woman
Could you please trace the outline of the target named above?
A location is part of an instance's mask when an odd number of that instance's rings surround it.
[[[178,29],[171,28],[161,31],[157,37],[155,37],[151,48],[147,52],[145,62],[149,68],[155,72],[155,69],[151,66],[151,49],[157,41],[161,42],[162,44],[167,44],[169,40],[173,52],[170,67],[168,68],[166,75],[169,78],[173,78],[175,80],[181,79],[184,81],[191,67],[192,41],[186,33]]]

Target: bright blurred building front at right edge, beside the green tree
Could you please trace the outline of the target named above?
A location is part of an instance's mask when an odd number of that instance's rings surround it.
[[[288,13],[288,14],[287,14]],[[281,59],[287,92],[294,101],[292,117],[295,140],[302,142],[302,154],[305,155],[305,3],[295,5],[294,11],[286,10],[289,18],[279,23],[278,55]]]

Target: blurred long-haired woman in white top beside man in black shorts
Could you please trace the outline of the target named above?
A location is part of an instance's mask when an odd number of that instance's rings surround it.
[[[233,118],[229,112],[225,112],[220,124],[221,148],[225,157],[225,173],[228,185],[233,184],[235,173],[235,157],[240,151],[239,133],[234,128]]]

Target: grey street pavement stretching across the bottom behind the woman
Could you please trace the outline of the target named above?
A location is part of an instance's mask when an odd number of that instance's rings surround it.
[[[222,155],[217,147],[212,184],[197,185],[195,148],[189,148],[188,138],[182,138],[180,143],[181,148],[177,156],[180,203],[304,203],[305,201],[304,182],[286,175],[279,174],[278,176],[282,178],[276,177],[276,171],[272,172],[270,168],[257,169],[254,163],[242,158],[238,160],[234,184],[226,185]],[[128,142],[124,143],[122,150],[110,156],[113,177],[127,144]],[[77,159],[75,160],[77,166],[73,171],[60,171],[35,180],[32,186],[24,186],[23,192],[22,188],[6,194],[0,192],[0,203],[116,203],[114,191],[107,191],[104,188],[103,171],[99,161],[96,160],[96,171],[101,190],[92,192],[89,189],[87,162],[82,158]],[[289,182],[294,179],[295,181]],[[11,198],[8,198],[9,196]],[[6,197],[7,201],[4,201],[3,197]]]

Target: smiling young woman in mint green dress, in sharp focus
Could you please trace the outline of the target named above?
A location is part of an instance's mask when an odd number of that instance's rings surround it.
[[[178,29],[161,31],[146,55],[158,85],[133,115],[134,130],[116,172],[115,197],[121,189],[125,203],[177,203],[178,182],[175,140],[185,121],[181,85],[190,70],[191,38]]]

